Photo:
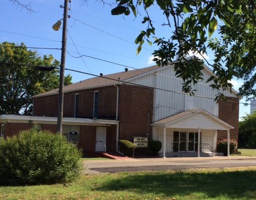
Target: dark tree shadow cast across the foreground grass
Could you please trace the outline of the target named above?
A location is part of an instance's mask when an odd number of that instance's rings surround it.
[[[188,196],[204,193],[208,197],[256,198],[256,171],[188,173],[188,172],[139,172],[123,173],[106,181],[98,190],[133,191],[164,196]]]

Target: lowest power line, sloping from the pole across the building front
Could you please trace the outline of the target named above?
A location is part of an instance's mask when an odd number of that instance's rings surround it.
[[[0,63],[4,63],[4,62],[0,62]],[[14,65],[21,65],[21,64],[16,64],[16,63],[7,63],[7,64],[14,64]],[[22,64],[24,66],[32,66],[35,67],[33,65],[27,65],[27,64]],[[55,69],[60,69],[60,68],[56,68]],[[141,87],[145,87],[145,88],[151,88],[151,89],[156,89],[156,90],[161,90],[161,91],[166,91],[166,92],[173,92],[173,93],[177,93],[177,94],[183,94],[183,95],[189,95],[187,93],[182,93],[182,92],[177,92],[177,91],[172,91],[172,90],[166,90],[166,89],[162,89],[162,88],[155,88],[155,87],[151,87],[151,86],[144,86],[144,85],[140,85],[140,84],[136,84],[136,83],[132,83],[132,82],[127,82],[127,81],[121,81],[121,80],[117,80],[117,79],[112,79],[109,77],[104,77],[104,76],[98,76],[95,74],[90,74],[90,73],[86,73],[86,72],[81,72],[81,71],[77,71],[77,70],[71,70],[71,69],[67,69],[65,68],[65,70],[67,71],[72,71],[72,72],[77,72],[77,73],[81,73],[81,74],[87,74],[87,75],[91,75],[94,77],[99,77],[99,78],[104,78],[104,79],[109,79],[109,80],[113,80],[113,81],[117,81],[117,82],[122,82],[122,83],[127,83],[127,84],[131,84],[131,85],[137,85],[137,86],[141,86]],[[190,95],[189,95],[190,96]],[[212,97],[205,97],[205,96],[199,96],[199,95],[194,95],[195,97],[200,97],[200,98],[205,98],[205,99],[212,99],[215,100],[215,98]],[[249,104],[249,103],[242,103],[242,102],[236,102],[236,101],[230,101],[230,100],[223,100],[220,99],[221,101],[226,101],[226,102],[233,102],[233,103],[239,103],[239,104],[244,104],[244,105],[256,105],[256,104]]]

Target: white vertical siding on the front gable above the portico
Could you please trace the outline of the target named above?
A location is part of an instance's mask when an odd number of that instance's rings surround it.
[[[170,77],[175,77],[173,66],[162,68],[161,70],[157,71],[157,74],[165,75],[168,77],[159,76],[156,74],[148,74],[148,75],[133,79],[130,82],[144,85],[144,86],[150,86],[150,87],[160,88],[164,90],[174,91],[174,92],[182,92],[183,81],[170,78]],[[203,70],[202,74],[204,76],[204,80],[199,81],[199,83],[204,84],[211,75],[206,70]],[[207,85],[202,85],[202,84],[196,84],[194,86],[194,89],[197,90],[194,92],[195,95],[215,98],[217,92],[212,91],[211,88],[208,86],[213,84],[213,82],[211,81],[207,83]],[[153,122],[172,116],[174,114],[180,113],[183,110],[186,110],[185,95],[169,92],[169,91],[155,89]],[[230,91],[224,91],[223,93],[226,96],[236,97],[236,95],[234,93],[230,93]],[[194,109],[204,109],[210,112],[211,114],[218,116],[219,105],[213,99],[193,97],[193,100],[194,100]]]

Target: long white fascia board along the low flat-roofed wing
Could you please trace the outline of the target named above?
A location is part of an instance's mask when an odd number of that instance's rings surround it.
[[[23,115],[0,115],[0,121],[2,122],[18,122],[18,123],[56,123],[57,117],[43,117],[43,116],[23,116]],[[117,124],[117,120],[108,119],[87,119],[87,118],[63,118],[63,124]]]

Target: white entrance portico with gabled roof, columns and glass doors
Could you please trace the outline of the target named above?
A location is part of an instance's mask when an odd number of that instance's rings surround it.
[[[151,124],[153,140],[162,142],[159,152],[163,158],[177,152],[200,157],[200,152],[216,152],[217,130],[227,130],[229,156],[229,130],[234,128],[203,109],[181,112]]]

